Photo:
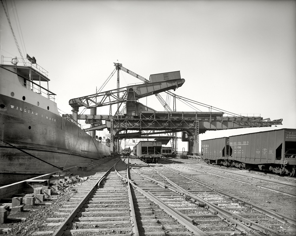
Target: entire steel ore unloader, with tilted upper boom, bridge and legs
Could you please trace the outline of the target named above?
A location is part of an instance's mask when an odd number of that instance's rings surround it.
[[[175,90],[184,84],[184,79],[172,79],[150,83],[149,80],[124,68],[122,64],[114,63],[114,65],[118,71],[123,70],[139,78],[144,84],[119,88],[118,73],[117,89],[74,98],[69,101],[69,105],[73,107],[73,120],[78,121],[79,119],[83,119],[86,123],[92,124],[90,128],[84,129],[85,131],[103,130],[106,128],[110,130],[110,147],[112,151],[114,151],[115,140],[148,135],[147,133],[143,133],[143,131],[153,131],[150,132],[149,135],[185,132],[188,137],[186,140],[188,141],[188,152],[198,154],[199,134],[205,133],[207,130],[270,127],[272,125],[282,124],[282,119],[271,121],[269,118],[263,119],[260,116],[239,116],[236,114],[233,116],[223,116],[225,114],[224,112],[172,111],[158,93],[170,89]],[[166,112],[155,111],[137,102],[139,98],[153,94],[156,95]],[[178,97],[178,99],[182,98],[176,94],[173,94],[173,96],[174,99],[176,99],[176,97]],[[126,107],[129,108],[129,110],[126,109],[126,113],[129,112],[132,115],[127,116],[123,114],[124,109],[119,111],[120,105],[123,102],[125,102]],[[113,104],[118,104],[117,111],[115,112],[117,115],[114,116],[112,116],[111,113],[111,105]],[[96,113],[92,113],[92,115],[78,115],[79,107],[95,109],[96,107],[105,105],[110,105],[109,115],[96,115]],[[102,120],[105,121],[105,124],[102,123]],[[128,130],[138,132],[128,133]],[[120,134],[122,131],[125,131],[125,134]],[[118,148],[119,147],[115,147],[115,150],[118,150]]]

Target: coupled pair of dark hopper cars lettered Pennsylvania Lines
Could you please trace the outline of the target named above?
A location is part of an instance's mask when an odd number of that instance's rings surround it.
[[[278,129],[202,141],[202,158],[238,168],[296,176],[296,129]]]

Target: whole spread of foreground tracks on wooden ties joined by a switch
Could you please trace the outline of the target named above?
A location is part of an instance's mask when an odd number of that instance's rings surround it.
[[[132,161],[141,168],[131,168],[128,159],[120,159],[105,173],[93,175],[76,188],[77,193],[59,208],[56,217],[47,219],[50,230],[32,235],[295,233],[295,219],[271,210],[262,214],[258,206],[218,193],[176,171],[160,168],[160,173],[157,165],[151,168],[138,159]]]

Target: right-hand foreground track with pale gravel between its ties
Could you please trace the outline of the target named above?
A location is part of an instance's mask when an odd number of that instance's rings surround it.
[[[161,169],[161,173],[157,171],[158,169]],[[175,188],[185,199],[204,204],[205,207],[194,207],[180,211],[186,213],[198,224],[200,229],[207,231],[207,233],[221,233],[220,223],[223,222],[228,227],[235,227],[236,230],[245,235],[295,235],[296,219],[197,182],[173,169],[159,168],[155,165],[153,169],[149,168],[145,171],[144,168],[140,168],[134,171],[138,175],[141,174],[143,178],[151,178],[150,181],[158,179],[156,183],[165,184],[164,186],[168,189],[170,187]],[[167,199],[169,195],[170,193],[163,195],[164,200],[170,202]],[[227,230],[227,227],[225,229]],[[237,231],[232,232],[238,233]]]

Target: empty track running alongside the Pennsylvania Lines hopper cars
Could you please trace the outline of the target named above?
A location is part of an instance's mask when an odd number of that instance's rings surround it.
[[[238,182],[242,182],[242,183],[249,184],[249,185],[255,185],[260,188],[265,188],[265,189],[268,189],[268,190],[271,190],[274,192],[282,193],[282,194],[291,196],[293,198],[296,198],[296,194],[295,194],[296,185],[295,184],[287,184],[287,183],[279,182],[279,181],[272,180],[272,179],[262,179],[262,178],[253,177],[253,176],[250,177],[250,176],[244,175],[244,174],[233,173],[233,172],[226,171],[226,170],[218,170],[216,168],[214,169],[214,171],[220,171],[220,172],[224,172],[224,173],[227,173],[230,175],[230,176],[225,176],[222,174],[214,173],[213,171],[210,171],[210,170],[213,170],[212,168],[208,168],[208,167],[204,167],[204,166],[201,167],[201,166],[197,166],[197,165],[193,165],[193,164],[189,164],[189,163],[176,163],[176,162],[172,162],[170,160],[163,160],[163,159],[161,161],[175,163],[175,164],[181,165],[181,166],[186,166],[187,168],[191,168],[191,169],[194,169],[197,171],[205,172],[208,174],[213,174],[216,176],[221,176],[223,178],[228,178],[233,181],[238,181]],[[209,169],[209,170],[205,171],[204,169]],[[231,177],[231,175],[235,175],[236,177],[235,178]],[[248,181],[246,181],[246,179]],[[252,180],[258,180],[259,184],[252,182]],[[266,184],[264,184],[264,183],[266,183]],[[271,184],[272,184],[272,186],[271,186]]]

